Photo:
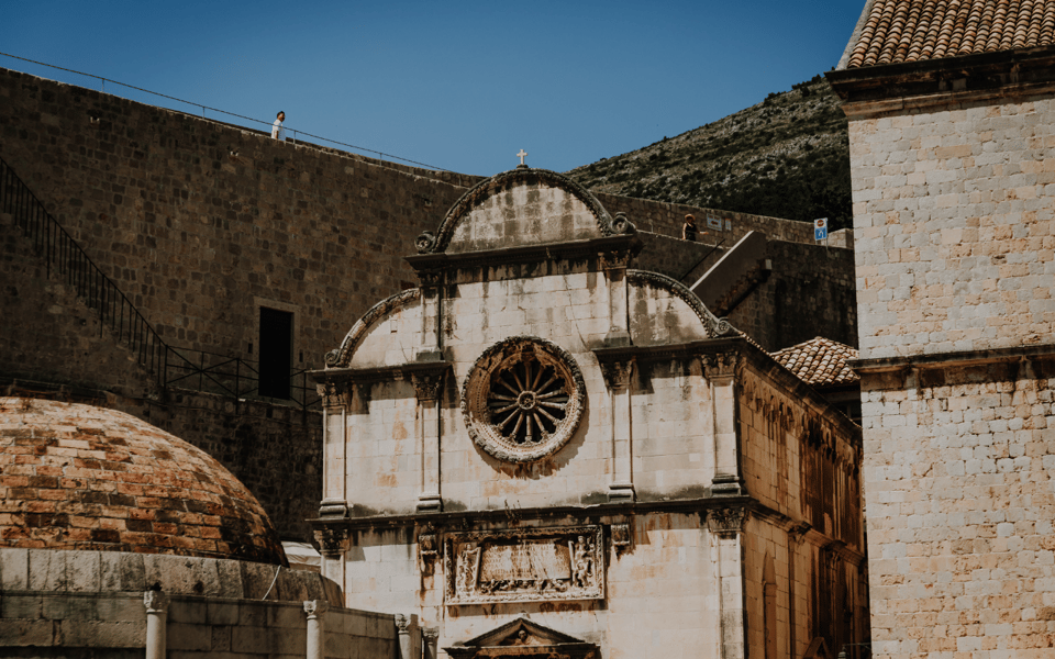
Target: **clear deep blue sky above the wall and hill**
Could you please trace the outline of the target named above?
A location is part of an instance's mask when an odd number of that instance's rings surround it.
[[[835,66],[864,3],[7,0],[0,52],[489,176],[521,148],[565,171],[790,89]]]

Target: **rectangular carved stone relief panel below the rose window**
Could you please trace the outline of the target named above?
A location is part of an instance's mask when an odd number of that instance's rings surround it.
[[[451,533],[446,604],[604,597],[601,526]]]

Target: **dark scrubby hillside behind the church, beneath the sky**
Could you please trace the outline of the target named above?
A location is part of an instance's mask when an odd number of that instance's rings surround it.
[[[822,76],[725,119],[573,169],[587,188],[853,226],[846,116]]]

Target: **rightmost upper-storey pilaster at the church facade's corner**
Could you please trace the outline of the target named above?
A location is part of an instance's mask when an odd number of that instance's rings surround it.
[[[715,495],[745,494],[740,472],[740,428],[736,415],[735,353],[701,355],[703,373],[711,386],[714,420],[714,476],[711,493]]]

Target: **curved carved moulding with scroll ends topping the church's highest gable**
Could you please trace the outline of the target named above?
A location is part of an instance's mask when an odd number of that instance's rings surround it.
[[[458,201],[451,206],[447,214],[444,215],[443,222],[440,223],[440,227],[435,234],[424,232],[418,236],[418,239],[414,242],[418,253],[437,254],[445,252],[451,244],[451,237],[454,235],[458,224],[473,208],[485,199],[498,194],[518,183],[544,183],[566,191],[589,209],[590,213],[592,213],[597,220],[597,228],[602,236],[634,232],[633,225],[628,222],[625,217],[619,215],[613,220],[608,211],[604,210],[604,206],[601,205],[601,202],[598,201],[589,190],[569,177],[548,169],[533,169],[530,167],[521,169],[518,167],[517,169],[503,171],[491,178],[484,179],[463,194]]]

